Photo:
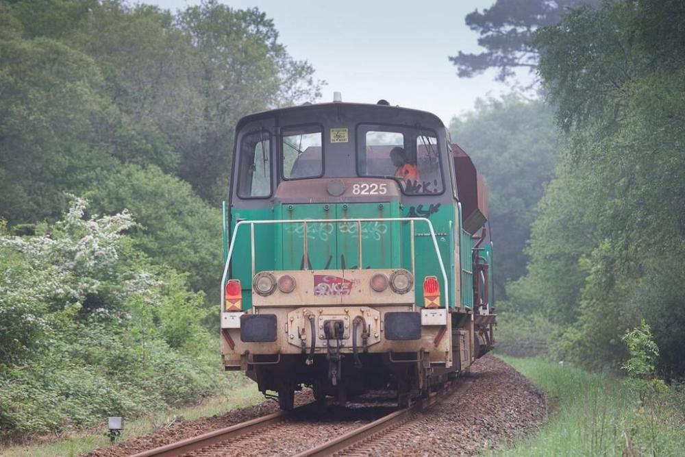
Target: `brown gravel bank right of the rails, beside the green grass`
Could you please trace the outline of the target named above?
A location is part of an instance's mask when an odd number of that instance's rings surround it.
[[[345,456],[473,456],[532,432],[545,419],[545,396],[493,356],[477,360],[466,380],[473,382],[462,395],[451,395]]]

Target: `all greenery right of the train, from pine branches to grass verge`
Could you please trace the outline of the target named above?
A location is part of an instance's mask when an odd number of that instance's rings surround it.
[[[501,454],[680,455],[685,8],[519,5],[467,16],[486,52],[452,58],[462,77],[495,68],[512,82],[531,68],[540,83],[537,97],[482,102],[451,125],[491,192],[499,354],[538,354],[503,358],[551,404],[540,431]]]

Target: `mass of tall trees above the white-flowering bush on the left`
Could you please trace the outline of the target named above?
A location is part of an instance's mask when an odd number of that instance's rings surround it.
[[[10,223],[56,217],[64,191],[82,192],[111,159],[155,164],[216,204],[240,116],[319,96],[312,67],[290,58],[256,9],[19,0],[0,13],[0,214]]]

